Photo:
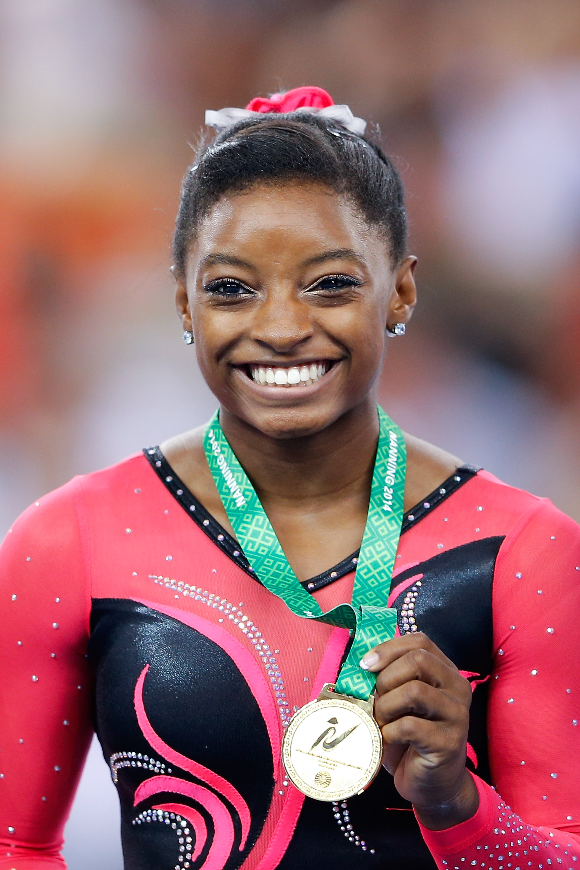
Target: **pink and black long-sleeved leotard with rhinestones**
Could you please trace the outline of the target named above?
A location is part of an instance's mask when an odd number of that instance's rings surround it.
[[[324,609],[350,600],[356,558],[304,584]],[[158,450],[31,505],[0,551],[0,867],[64,866],[93,723],[127,870],[577,867],[580,529],[465,467],[405,515],[396,565],[399,631],[473,688],[480,805],[443,832],[386,771],[337,805],[284,778],[283,728],[347,633],[267,592]]]

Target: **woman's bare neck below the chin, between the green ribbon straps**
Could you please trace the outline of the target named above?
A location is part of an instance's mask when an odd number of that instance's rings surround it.
[[[297,505],[370,487],[379,429],[375,397],[302,438],[270,438],[223,408],[220,421],[263,502]]]

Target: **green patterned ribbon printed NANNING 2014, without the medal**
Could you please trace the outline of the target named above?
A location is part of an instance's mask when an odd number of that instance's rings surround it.
[[[290,568],[257,492],[223,434],[219,412],[203,437],[205,456],[237,540],[257,578],[297,616],[317,619],[354,632],[350,653],[337,679],[337,692],[367,700],[376,674],[364,671],[360,659],[390,640],[397,629],[397,611],[386,606],[403,521],[406,448],[403,433],[378,406],[377,458],[370,487],[369,512],[358,555],[352,603],[323,613]]]

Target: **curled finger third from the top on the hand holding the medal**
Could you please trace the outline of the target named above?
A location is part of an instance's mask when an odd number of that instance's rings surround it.
[[[462,703],[419,680],[398,686],[375,701],[375,719],[379,726],[404,716],[445,721],[451,727],[463,727],[469,720],[467,709]]]

